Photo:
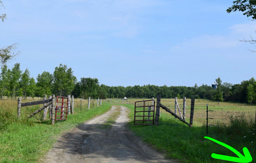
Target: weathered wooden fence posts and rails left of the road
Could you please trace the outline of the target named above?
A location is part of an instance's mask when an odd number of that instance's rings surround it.
[[[71,105],[71,96],[68,95],[67,97],[67,114],[74,114],[74,96],[72,96],[72,105]],[[41,101],[32,101],[32,102],[26,102],[22,103],[21,98],[18,98],[18,107],[17,107],[17,117],[20,118],[20,110],[21,107],[31,106],[31,105],[40,105],[43,104],[43,107],[40,107],[39,109],[35,110],[28,118],[33,117],[35,114],[41,112],[43,110],[43,120],[46,120],[46,115],[49,110],[49,119],[52,121],[52,125],[54,125],[56,120],[56,112],[58,108],[63,108],[63,101],[62,106],[58,106],[58,103],[56,104],[56,98],[55,95],[52,94],[52,96],[48,96],[48,100],[46,100],[46,95],[43,96],[43,100]],[[63,111],[62,111],[63,112]]]

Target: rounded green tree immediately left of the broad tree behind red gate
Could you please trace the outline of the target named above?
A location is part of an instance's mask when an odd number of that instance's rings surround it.
[[[37,93],[40,97],[43,97],[44,94],[50,95],[52,90],[52,74],[50,72],[42,72],[37,76]]]

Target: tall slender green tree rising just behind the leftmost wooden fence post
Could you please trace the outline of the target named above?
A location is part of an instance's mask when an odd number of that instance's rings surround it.
[[[12,92],[12,98],[17,96],[17,91],[19,90],[19,80],[22,71],[20,70],[20,63],[15,63],[14,67],[11,69],[11,81],[10,88]]]

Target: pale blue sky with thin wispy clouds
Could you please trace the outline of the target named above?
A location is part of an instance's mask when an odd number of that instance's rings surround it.
[[[0,47],[34,78],[60,63],[109,86],[210,85],[255,78],[256,22],[233,0],[2,0]],[[11,65],[10,64],[10,65]]]

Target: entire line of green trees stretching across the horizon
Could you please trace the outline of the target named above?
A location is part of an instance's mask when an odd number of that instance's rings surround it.
[[[256,81],[254,78],[244,80],[239,84],[222,83],[216,79],[217,89],[211,85],[202,84],[194,87],[186,86],[157,86],[157,85],[134,85],[134,86],[108,86],[101,84],[97,78],[81,78],[77,81],[71,68],[60,64],[55,67],[53,74],[42,72],[38,74],[36,81],[30,77],[30,71],[20,70],[20,63],[16,63],[12,69],[7,65],[1,66],[0,96],[16,99],[22,96],[43,97],[44,94],[56,94],[59,96],[74,95],[75,98],[152,98],[158,94],[162,98],[200,98],[214,101],[234,101],[256,103]]]

